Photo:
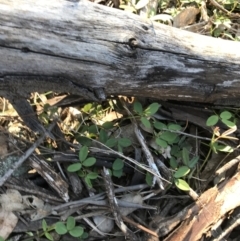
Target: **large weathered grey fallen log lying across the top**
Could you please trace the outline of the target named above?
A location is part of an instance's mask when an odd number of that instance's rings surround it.
[[[240,43],[81,0],[0,0],[0,95],[240,97]]]

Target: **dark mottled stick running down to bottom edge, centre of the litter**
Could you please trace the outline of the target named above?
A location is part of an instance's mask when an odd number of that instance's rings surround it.
[[[103,167],[102,176],[103,176],[105,188],[107,191],[109,205],[117,226],[122,230],[122,232],[127,238],[129,238],[132,241],[137,241],[138,238],[136,237],[136,235],[131,230],[128,229],[128,227],[124,224],[121,218],[121,214],[118,208],[118,202],[114,194],[114,187],[111,180],[111,176],[108,169],[106,169],[105,167]]]

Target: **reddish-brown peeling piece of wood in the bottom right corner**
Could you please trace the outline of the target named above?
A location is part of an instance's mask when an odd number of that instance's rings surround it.
[[[197,241],[228,212],[240,205],[240,172],[218,186],[204,192],[195,204],[182,210],[176,217],[168,217],[159,224],[159,234],[166,234],[183,221],[164,241]],[[219,235],[219,234],[218,234]]]

